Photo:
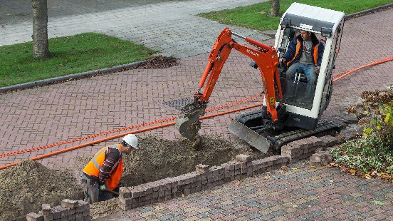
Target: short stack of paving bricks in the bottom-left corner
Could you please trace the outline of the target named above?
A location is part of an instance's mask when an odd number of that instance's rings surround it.
[[[63,200],[61,205],[51,208],[43,204],[38,213],[26,215],[28,221],[85,221],[90,219],[90,206],[83,200]]]

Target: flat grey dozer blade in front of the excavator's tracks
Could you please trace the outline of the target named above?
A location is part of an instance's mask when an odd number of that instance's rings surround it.
[[[240,123],[236,119],[232,119],[228,130],[262,153],[267,153],[271,146],[271,143],[268,141],[268,139],[259,135],[250,128],[247,128],[246,125],[243,125],[243,123]]]

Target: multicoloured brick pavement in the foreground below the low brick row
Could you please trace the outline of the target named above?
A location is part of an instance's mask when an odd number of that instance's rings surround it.
[[[336,168],[290,165],[101,220],[393,220],[393,187]]]

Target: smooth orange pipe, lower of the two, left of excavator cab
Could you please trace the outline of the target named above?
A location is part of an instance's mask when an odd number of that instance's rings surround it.
[[[254,104],[254,105],[251,105],[251,106],[246,106],[246,107],[243,107],[243,108],[237,108],[237,109],[234,109],[234,110],[231,110],[231,111],[224,111],[224,112],[221,112],[221,113],[214,113],[214,114],[211,114],[211,115],[205,115],[205,116],[202,116],[199,119],[203,120],[203,119],[206,119],[206,118],[213,118],[213,117],[216,117],[218,115],[224,115],[226,113],[233,113],[233,112],[237,112],[237,111],[243,111],[243,110],[246,110],[248,108],[255,108],[255,107],[258,107],[258,106],[262,106],[262,103],[257,103],[257,104]],[[121,134],[118,134],[118,135],[112,135],[112,136],[110,136],[108,138],[103,138],[103,139],[100,139],[100,140],[95,140],[95,141],[91,141],[91,142],[88,142],[88,143],[75,145],[73,147],[66,148],[66,149],[63,149],[63,150],[57,150],[57,151],[54,151],[52,153],[46,153],[46,154],[43,154],[43,155],[38,155],[38,156],[36,156],[34,158],[30,158],[29,160],[39,160],[39,159],[42,159],[42,158],[48,158],[48,157],[50,157],[52,155],[57,155],[57,154],[60,154],[60,153],[68,152],[70,150],[83,148],[85,146],[93,145],[95,143],[101,143],[101,142],[106,141],[106,140],[112,140],[112,139],[115,139],[115,138],[120,138],[120,137],[125,136],[125,135],[130,134],[130,133],[141,133],[141,132],[145,132],[147,130],[154,130],[154,129],[157,129],[157,128],[164,128],[164,127],[171,126],[171,125],[174,125],[174,124],[175,124],[174,122],[172,122],[172,123],[165,123],[165,124],[156,125],[156,126],[153,126],[153,127],[150,127],[150,128],[143,128],[143,129],[140,129],[140,130],[134,130],[132,132],[121,133]],[[16,164],[20,163],[20,162],[21,161],[16,161],[14,163],[9,163],[9,164],[6,164],[6,165],[2,165],[2,166],[0,166],[0,170],[2,170],[4,168],[9,168],[9,167],[11,167],[13,165],[16,165]]]

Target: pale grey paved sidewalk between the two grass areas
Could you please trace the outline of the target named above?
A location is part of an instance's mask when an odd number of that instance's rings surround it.
[[[263,1],[169,1],[146,6],[135,6],[92,14],[73,15],[48,19],[48,37],[70,36],[83,32],[99,32],[117,36],[147,48],[161,51],[164,56],[185,58],[211,51],[222,29],[219,24],[195,16],[208,11],[236,8]],[[256,40],[266,40],[260,32],[229,26],[236,32]],[[31,41],[30,21],[0,26],[0,46]]]

